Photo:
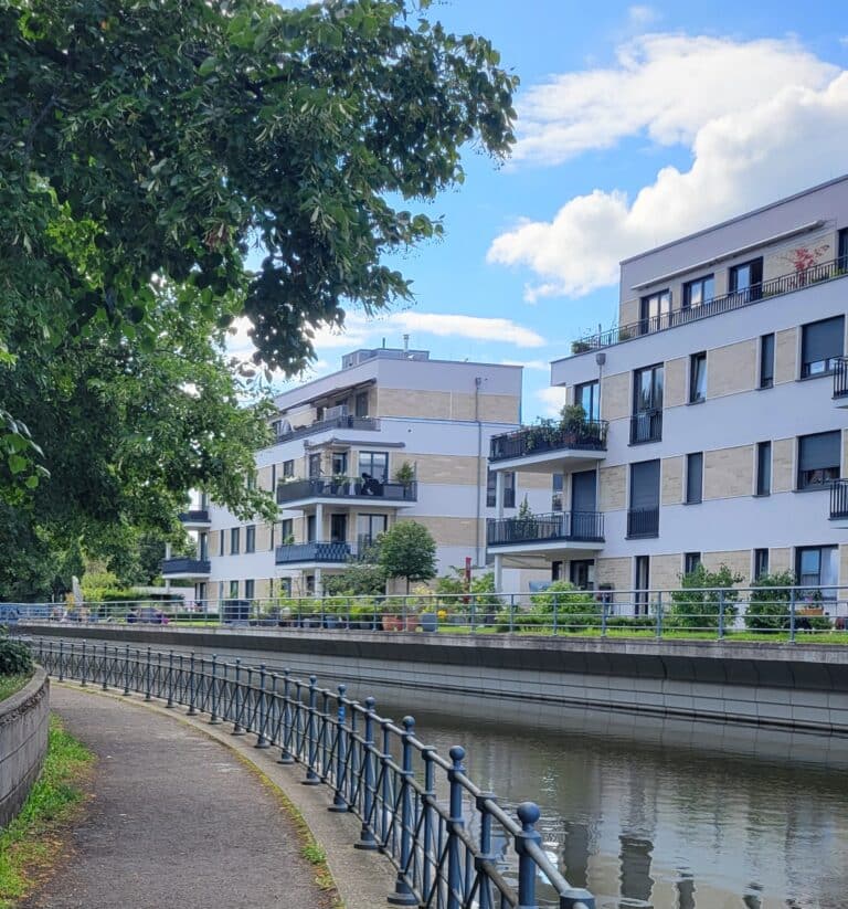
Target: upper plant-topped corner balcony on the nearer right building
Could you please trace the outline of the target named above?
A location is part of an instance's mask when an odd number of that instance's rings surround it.
[[[533,465],[565,463],[569,469],[580,469],[606,456],[606,420],[587,420],[576,426],[522,426],[495,435],[489,443],[492,469],[509,471],[518,466],[526,471]]]

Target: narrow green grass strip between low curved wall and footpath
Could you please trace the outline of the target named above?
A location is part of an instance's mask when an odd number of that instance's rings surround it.
[[[86,796],[94,754],[50,717],[47,753],[20,814],[0,832],[0,909],[8,909],[50,873],[62,855],[61,832]]]

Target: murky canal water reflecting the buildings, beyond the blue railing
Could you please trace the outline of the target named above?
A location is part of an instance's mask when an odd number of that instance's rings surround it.
[[[537,801],[544,848],[598,907],[848,907],[845,740],[585,711],[529,723],[460,712],[418,711],[418,737],[445,755],[463,744],[471,779],[505,806]]]

